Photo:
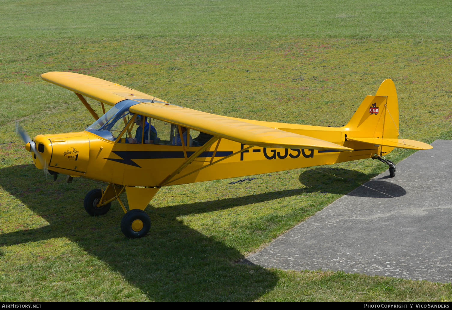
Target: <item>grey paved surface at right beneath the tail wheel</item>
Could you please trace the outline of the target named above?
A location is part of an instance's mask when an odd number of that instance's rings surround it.
[[[452,282],[452,141],[436,140],[244,260]]]

